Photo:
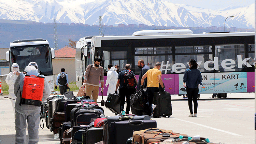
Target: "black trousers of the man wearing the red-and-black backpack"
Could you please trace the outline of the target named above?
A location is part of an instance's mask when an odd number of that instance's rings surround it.
[[[125,114],[129,114],[129,111],[131,109],[131,94],[133,90],[127,89],[127,88],[120,88],[119,89],[119,95],[120,95],[120,111],[124,111],[125,107],[125,98],[126,98],[126,112]]]

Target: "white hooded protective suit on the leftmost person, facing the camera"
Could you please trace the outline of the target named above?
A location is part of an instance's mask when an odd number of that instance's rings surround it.
[[[18,67],[18,68],[13,68],[13,67]],[[20,73],[20,72],[19,72],[19,65],[18,65],[17,63],[13,63],[13,64],[12,64],[12,72],[10,72],[10,73],[6,76],[6,78],[5,78],[5,82],[6,82],[6,83],[8,84],[8,86],[9,86],[9,95],[10,95],[9,97],[12,98],[12,99],[16,99],[16,96],[14,95],[13,89],[14,89],[14,83],[15,83],[17,77],[18,77],[17,72]],[[11,100],[12,106],[13,106],[13,113],[15,114],[14,105],[15,105],[15,102],[16,102],[16,101],[15,101],[15,100],[12,100],[12,99],[10,99],[10,100]]]

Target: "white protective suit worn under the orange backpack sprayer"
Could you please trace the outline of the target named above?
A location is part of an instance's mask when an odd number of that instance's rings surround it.
[[[30,68],[26,67],[27,74],[33,74],[36,72],[34,66],[28,66]],[[30,72],[29,72],[30,71]],[[33,72],[34,71],[34,72]],[[38,70],[37,70],[38,71]],[[37,74],[37,76],[39,73]],[[43,75],[40,75],[43,76]],[[44,76],[43,76],[44,77]],[[20,75],[17,77],[17,80],[14,84],[14,93],[16,98],[15,103],[15,144],[26,144],[26,121],[28,123],[28,143],[29,144],[38,144],[39,142],[39,123],[40,123],[40,106],[35,105],[28,105],[28,104],[21,104],[21,94],[23,91],[23,84],[24,84],[24,78],[25,74],[20,73]],[[44,79],[44,90],[43,90],[43,99],[42,101],[45,101],[48,96],[50,95],[51,89],[50,86],[46,80]]]

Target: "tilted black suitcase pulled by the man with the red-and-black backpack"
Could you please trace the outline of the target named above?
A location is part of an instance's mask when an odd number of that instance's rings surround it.
[[[108,98],[105,102],[105,106],[111,112],[120,114],[120,96],[115,93],[109,93]]]

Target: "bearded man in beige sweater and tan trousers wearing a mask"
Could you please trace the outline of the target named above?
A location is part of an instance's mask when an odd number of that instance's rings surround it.
[[[101,92],[104,89],[103,68],[100,66],[100,62],[100,58],[95,58],[94,64],[87,66],[82,86],[83,88],[85,87],[86,96],[90,96],[90,99],[94,99],[95,102],[97,102],[99,95],[99,81],[101,83]]]

